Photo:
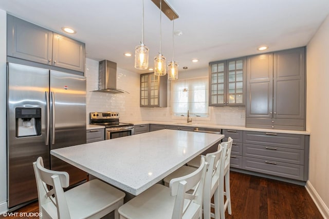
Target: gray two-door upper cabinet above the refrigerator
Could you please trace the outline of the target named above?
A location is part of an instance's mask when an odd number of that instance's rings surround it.
[[[85,44],[7,15],[7,55],[83,72]]]

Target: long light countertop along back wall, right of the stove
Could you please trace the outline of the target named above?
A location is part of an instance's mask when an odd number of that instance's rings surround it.
[[[142,124],[159,124],[159,125],[170,125],[170,126],[191,126],[191,127],[203,127],[203,128],[217,128],[217,129],[233,129],[242,131],[259,131],[259,132],[273,132],[273,133],[287,133],[287,134],[304,134],[309,135],[308,131],[293,131],[293,130],[281,130],[281,129],[260,129],[260,128],[247,128],[244,126],[227,126],[227,125],[216,125],[216,124],[206,124],[199,122],[192,122],[186,124],[184,122],[157,122],[157,121],[130,121],[127,123],[132,123],[134,125]]]

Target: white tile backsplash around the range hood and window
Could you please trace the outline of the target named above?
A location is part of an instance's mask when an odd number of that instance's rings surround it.
[[[85,76],[87,77],[87,124],[89,124],[89,112],[97,111],[119,112],[120,121],[127,123],[137,121],[179,121],[172,118],[170,107],[139,107],[140,75],[137,73],[117,68],[117,88],[129,92],[121,94],[93,92],[98,89],[98,61],[86,58]],[[170,89],[170,83],[168,89]],[[245,126],[245,107],[210,107],[210,109],[210,120],[195,121],[206,124]]]

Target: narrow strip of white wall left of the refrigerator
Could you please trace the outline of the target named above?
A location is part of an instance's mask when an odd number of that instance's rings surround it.
[[[0,10],[0,215],[7,211],[7,156],[6,156],[6,12]]]

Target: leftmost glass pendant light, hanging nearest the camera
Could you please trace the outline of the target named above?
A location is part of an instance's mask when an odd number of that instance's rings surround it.
[[[143,43],[144,36],[144,0],[142,10],[142,41],[135,49],[135,68],[138,70],[145,70],[149,68],[149,48]]]

